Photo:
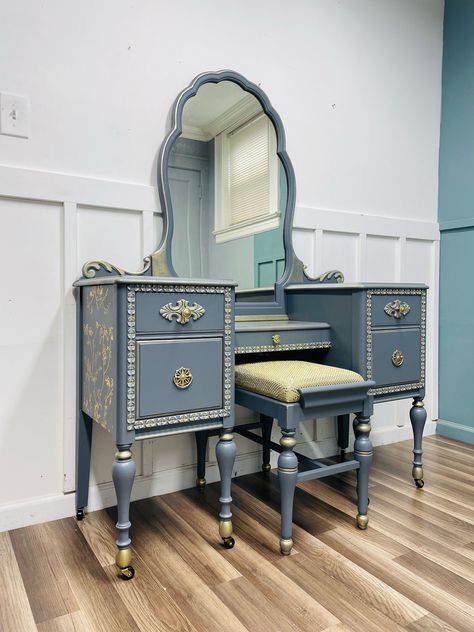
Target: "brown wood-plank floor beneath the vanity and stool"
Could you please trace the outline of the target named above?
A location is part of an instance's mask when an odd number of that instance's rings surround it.
[[[235,480],[236,546],[217,536],[216,485],[132,505],[136,576],[114,566],[114,511],[0,533],[2,632],[437,632],[474,630],[474,446],[379,447],[370,523],[354,526],[354,473],[298,486],[278,553],[274,474]]]

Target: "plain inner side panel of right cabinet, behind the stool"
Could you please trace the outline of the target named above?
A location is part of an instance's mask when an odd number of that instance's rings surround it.
[[[331,325],[331,348],[326,363],[357,371],[360,361],[353,344],[353,326],[359,323],[354,314],[353,296],[350,290],[311,291],[294,290],[286,293],[287,312],[290,319],[324,321]],[[360,329],[360,327],[359,327]],[[359,334],[360,335],[360,334]]]

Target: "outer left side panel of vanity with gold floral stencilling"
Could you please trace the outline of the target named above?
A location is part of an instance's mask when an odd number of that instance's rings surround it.
[[[117,287],[82,292],[82,409],[109,432],[117,412]]]

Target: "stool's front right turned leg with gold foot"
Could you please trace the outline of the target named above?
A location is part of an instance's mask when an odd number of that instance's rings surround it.
[[[370,417],[357,415],[354,419],[354,457],[359,461],[357,470],[357,526],[366,529],[369,523],[367,510],[369,506],[369,471],[373,450],[370,435]]]

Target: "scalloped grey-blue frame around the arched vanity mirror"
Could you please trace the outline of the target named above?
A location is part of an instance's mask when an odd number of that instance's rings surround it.
[[[158,160],[158,192],[160,196],[161,207],[163,210],[163,234],[157,251],[151,255],[152,258],[152,274],[171,274],[177,276],[173,267],[171,256],[171,247],[173,239],[173,205],[171,201],[171,192],[168,182],[168,166],[172,147],[175,141],[182,133],[183,126],[183,109],[187,101],[197,94],[201,86],[206,83],[219,83],[221,81],[232,81],[239,85],[243,90],[252,94],[261,104],[263,112],[270,118],[276,133],[277,156],[286,175],[287,181],[287,200],[285,208],[285,218],[283,227],[283,246],[285,250],[285,267],[283,275],[275,284],[275,290],[272,292],[269,301],[252,301],[245,302],[239,300],[236,303],[236,313],[245,314],[283,314],[285,313],[284,304],[284,287],[292,278],[293,269],[295,267],[296,257],[293,251],[291,241],[291,229],[293,226],[293,216],[295,211],[296,183],[293,165],[286,153],[285,148],[285,130],[283,123],[272,107],[270,100],[264,91],[254,83],[248,81],[245,77],[232,70],[221,70],[218,72],[206,72],[198,75],[188,88],[183,90],[176,99],[172,111],[171,131],[166,136],[161,146]],[[298,261],[298,263],[300,263]],[[255,290],[258,294],[258,288]]]

